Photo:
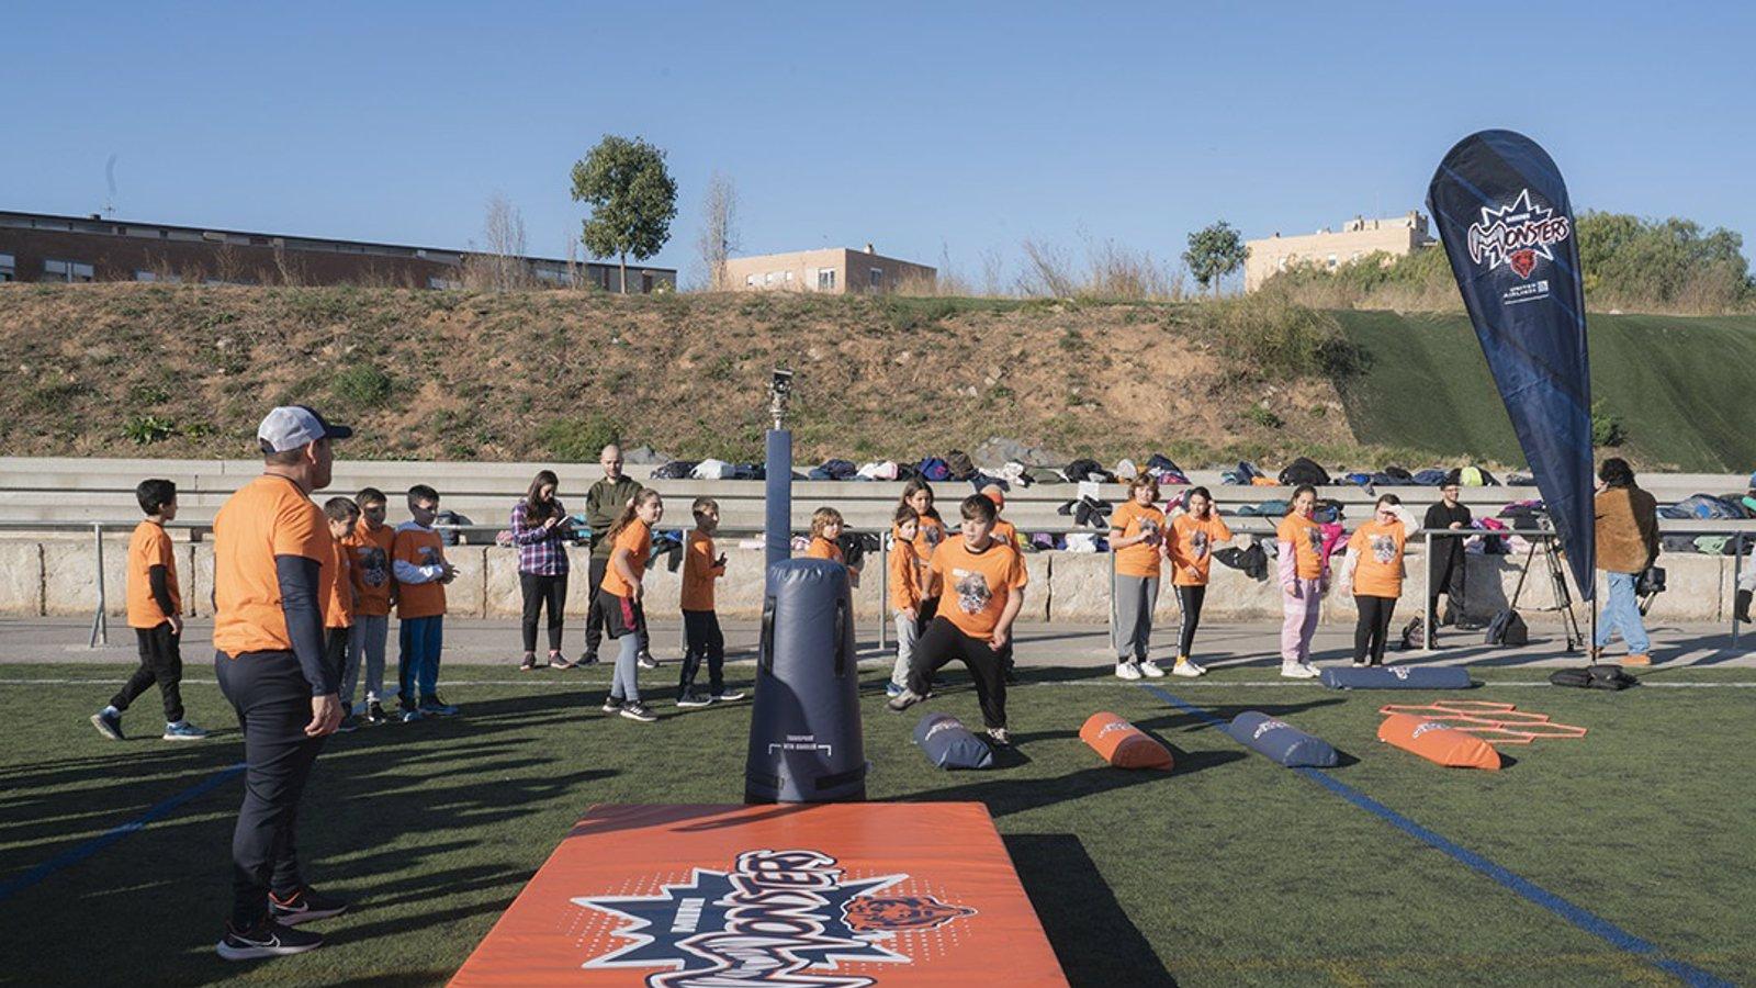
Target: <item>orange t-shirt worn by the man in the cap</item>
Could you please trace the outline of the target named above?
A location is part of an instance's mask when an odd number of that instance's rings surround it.
[[[284,476],[262,475],[227,498],[214,515],[214,649],[234,659],[291,650],[274,557],[323,566],[334,541],[323,512]]]

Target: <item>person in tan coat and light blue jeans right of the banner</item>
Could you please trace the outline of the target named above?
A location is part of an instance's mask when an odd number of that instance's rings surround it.
[[[1598,570],[1608,584],[1603,601],[1603,619],[1593,642],[1591,659],[1603,656],[1603,647],[1621,631],[1628,642],[1624,666],[1652,665],[1651,638],[1640,622],[1640,605],[1635,599],[1635,580],[1658,559],[1658,501],[1635,483],[1628,461],[1610,457],[1598,468],[1598,496],[1593,501],[1598,538]]]

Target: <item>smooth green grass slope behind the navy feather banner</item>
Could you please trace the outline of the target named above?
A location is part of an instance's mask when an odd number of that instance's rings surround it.
[[[1343,389],[1361,443],[1521,459],[1463,315],[1335,313],[1371,353]],[[1624,455],[1684,471],[1756,466],[1756,318],[1593,315],[1591,389]]]

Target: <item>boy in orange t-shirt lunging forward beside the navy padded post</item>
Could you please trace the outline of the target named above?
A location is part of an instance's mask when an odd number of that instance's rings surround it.
[[[992,538],[994,501],[971,494],[964,498],[962,517],[962,536],[948,538],[932,550],[929,566],[945,587],[945,599],[915,645],[908,689],[887,707],[901,714],[920,703],[931,696],[932,673],[945,663],[959,659],[969,666],[975,680],[989,740],[1004,747],[1011,738],[1006,733],[1006,677],[1001,672],[1001,652],[1011,642],[1011,624],[1024,607],[1024,585],[1029,577],[1018,550]]]

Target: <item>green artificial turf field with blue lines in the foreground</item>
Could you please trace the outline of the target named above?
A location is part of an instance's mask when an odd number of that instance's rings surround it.
[[[746,670],[734,666],[734,682]],[[86,723],[112,684],[19,682],[114,682],[121,672],[0,666],[0,883],[239,761],[235,723],[211,684],[188,684],[184,698],[191,719],[225,728],[214,740],[116,744]],[[191,679],[205,673],[193,668]],[[671,675],[648,673],[648,689]],[[1756,680],[1751,670],[1652,675]],[[1493,686],[1540,677],[1479,670],[1489,686],[1470,698],[1591,733],[1508,747],[1515,763],[1501,772],[1445,770],[1375,740],[1380,703],[1435,694],[1247,686],[1271,679],[1261,668],[1157,686],[1219,717],[1285,717],[1343,752],[1331,779],[1672,960],[1756,981],[1756,689]],[[302,858],[313,883],[356,904],[318,926],[330,937],[321,951],[241,965],[214,956],[241,796],[232,777],[0,898],[0,981],[437,984],[588,805],[741,800],[748,703],[680,714],[666,700],[664,719],[648,726],[595,710],[606,682],[597,670],[457,668],[448,679],[460,717],[337,737],[318,763]],[[910,744],[918,714],[887,714],[882,679],[867,679],[871,798],[983,802],[1075,984],[1675,983],[1143,686],[1029,670],[1011,693],[1017,751],[990,772],[946,774]],[[961,682],[952,675],[927,708],[978,723]],[[155,726],[155,707],[156,694],[144,696],[126,726]],[[1177,770],[1103,765],[1078,740],[1094,710],[1162,738]]]

